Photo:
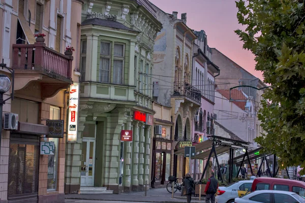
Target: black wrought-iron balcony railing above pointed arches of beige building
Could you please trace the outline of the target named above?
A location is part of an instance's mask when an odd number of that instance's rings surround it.
[[[175,83],[173,97],[185,97],[187,100],[200,106],[201,91],[189,83]]]

